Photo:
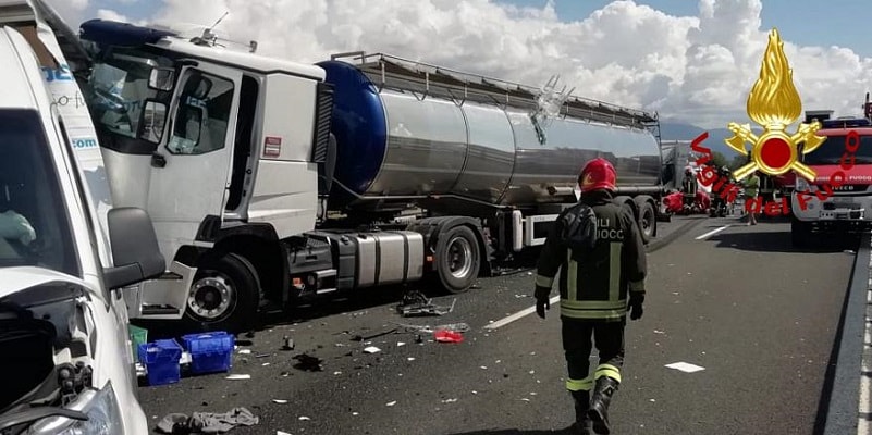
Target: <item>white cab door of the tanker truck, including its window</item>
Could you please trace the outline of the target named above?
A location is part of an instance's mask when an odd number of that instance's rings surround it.
[[[222,220],[230,184],[242,73],[185,66],[151,160],[148,211],[164,256],[191,244],[207,216]]]

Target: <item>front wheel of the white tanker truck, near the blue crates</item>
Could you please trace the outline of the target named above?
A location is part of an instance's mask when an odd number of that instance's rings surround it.
[[[254,268],[235,253],[206,260],[187,297],[185,318],[198,331],[241,332],[251,325],[260,303]]]

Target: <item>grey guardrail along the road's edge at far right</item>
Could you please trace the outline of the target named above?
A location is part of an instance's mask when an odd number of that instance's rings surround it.
[[[831,373],[827,373],[821,396],[822,405],[827,405],[823,424],[824,435],[857,434],[867,293],[870,290],[870,233],[864,232],[853,259],[851,281],[845,295],[842,320],[836,332],[838,350],[835,352],[835,360],[831,358],[830,361],[830,366],[835,366],[835,370],[832,377]]]

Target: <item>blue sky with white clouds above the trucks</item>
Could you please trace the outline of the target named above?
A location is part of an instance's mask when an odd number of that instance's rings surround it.
[[[219,36],[307,63],[365,50],[530,86],[556,74],[576,96],[703,128],[750,122],[773,27],[803,110],[859,114],[872,91],[869,0],[46,1],[73,27],[210,26],[229,11]]]

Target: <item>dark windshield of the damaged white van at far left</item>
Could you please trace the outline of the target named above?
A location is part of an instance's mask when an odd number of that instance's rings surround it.
[[[0,268],[81,276],[67,215],[39,114],[0,110]]]

